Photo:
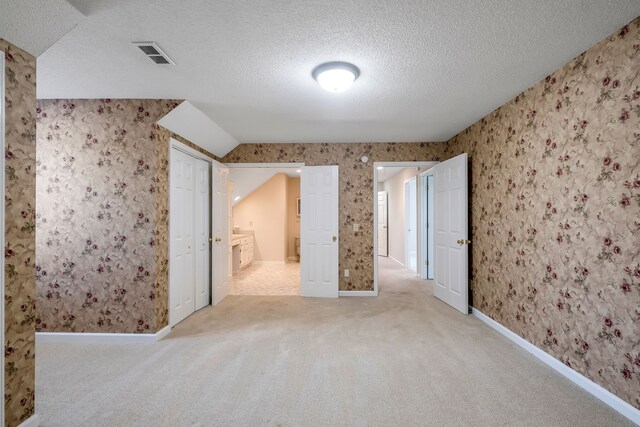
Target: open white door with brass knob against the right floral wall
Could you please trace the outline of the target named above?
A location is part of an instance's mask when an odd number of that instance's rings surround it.
[[[435,284],[433,294],[469,313],[467,154],[434,166]]]

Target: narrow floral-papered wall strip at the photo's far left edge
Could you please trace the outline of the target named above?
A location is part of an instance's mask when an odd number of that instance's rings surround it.
[[[5,56],[5,424],[34,413],[36,60],[0,39]]]

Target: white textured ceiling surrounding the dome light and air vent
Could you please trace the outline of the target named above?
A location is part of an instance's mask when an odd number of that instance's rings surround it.
[[[188,99],[240,142],[446,140],[640,14],[638,0],[71,3],[86,18],[38,58],[40,98]],[[334,60],[362,71],[342,94],[310,77]]]

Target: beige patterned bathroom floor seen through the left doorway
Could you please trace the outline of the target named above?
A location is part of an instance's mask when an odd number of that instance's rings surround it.
[[[300,263],[252,262],[229,280],[229,295],[300,295]]]

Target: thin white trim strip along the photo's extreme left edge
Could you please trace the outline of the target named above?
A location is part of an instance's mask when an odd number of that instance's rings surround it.
[[[4,142],[4,122],[6,114],[4,112],[4,98],[5,98],[5,69],[4,69],[4,51],[0,50],[0,144],[2,146],[2,152],[5,150]],[[0,156],[0,201],[2,201],[2,208],[0,209],[0,247],[4,248],[4,156]],[[5,334],[4,334],[4,257],[0,257],[0,342],[2,342],[2,348],[5,346]],[[2,362],[2,372],[0,372],[0,383],[2,385],[2,393],[4,395],[4,350],[0,352],[0,361]],[[0,405],[0,425],[4,425],[4,401]]]

